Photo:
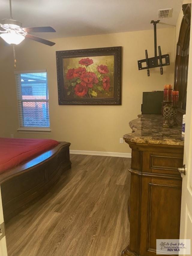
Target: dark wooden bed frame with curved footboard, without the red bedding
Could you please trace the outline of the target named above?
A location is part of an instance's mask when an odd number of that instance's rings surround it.
[[[4,221],[32,204],[71,167],[68,142],[0,175]]]

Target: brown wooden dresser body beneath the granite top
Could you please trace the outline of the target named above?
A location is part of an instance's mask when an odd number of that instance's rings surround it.
[[[127,142],[132,149],[130,244],[122,255],[156,255],[156,239],[178,239],[183,146]]]

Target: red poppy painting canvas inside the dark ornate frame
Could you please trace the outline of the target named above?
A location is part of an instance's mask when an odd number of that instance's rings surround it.
[[[71,62],[66,69],[64,86],[68,98],[113,97],[113,56],[78,58]]]

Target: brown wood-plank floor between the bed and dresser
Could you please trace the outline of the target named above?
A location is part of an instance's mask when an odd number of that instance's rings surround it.
[[[8,256],[116,256],[128,245],[131,159],[70,159],[49,193],[6,224]]]

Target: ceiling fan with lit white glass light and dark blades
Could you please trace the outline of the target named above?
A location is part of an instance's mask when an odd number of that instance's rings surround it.
[[[11,0],[9,0],[10,6],[10,19],[0,20],[0,37],[4,39],[8,44],[20,44],[25,38],[32,39],[42,44],[53,46],[55,43],[46,39],[30,35],[29,32],[56,32],[52,27],[35,27],[35,28],[23,28],[22,23],[13,20],[11,10]]]

